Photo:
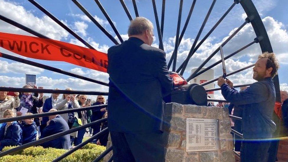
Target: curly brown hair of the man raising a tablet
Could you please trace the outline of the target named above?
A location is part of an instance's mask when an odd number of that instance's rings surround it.
[[[272,71],[271,71],[271,76],[272,78],[274,76],[277,75],[277,71],[278,69],[280,68],[280,65],[279,65],[279,62],[276,58],[276,55],[275,53],[268,53],[268,52],[264,52],[263,54],[259,55],[258,56],[258,59],[259,58],[267,58],[267,63],[266,63],[266,69],[268,68],[272,68]]]

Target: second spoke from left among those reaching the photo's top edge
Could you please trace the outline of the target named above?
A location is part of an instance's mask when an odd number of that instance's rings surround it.
[[[71,0],[87,17],[110,39],[115,45],[119,45],[118,41],[77,1]]]

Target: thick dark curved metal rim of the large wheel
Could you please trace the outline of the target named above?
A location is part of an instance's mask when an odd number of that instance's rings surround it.
[[[251,25],[254,29],[254,32],[256,34],[256,36],[259,39],[259,45],[261,48],[262,53],[264,52],[273,52],[268,34],[266,32],[265,26],[262,22],[262,19],[256,9],[256,7],[254,6],[252,0],[241,0],[240,1],[241,6],[243,7],[244,11],[247,14],[248,18],[251,18]],[[276,90],[276,101],[280,102],[280,85],[279,85],[279,78],[278,75],[276,75],[273,78],[274,81],[274,86],[275,86],[275,90]]]

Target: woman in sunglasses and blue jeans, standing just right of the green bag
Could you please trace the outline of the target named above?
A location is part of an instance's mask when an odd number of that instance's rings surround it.
[[[87,101],[86,95],[80,95],[79,96],[78,102],[79,102],[79,105],[81,107],[91,106],[91,103],[90,102],[86,102],[86,101]],[[87,110],[87,111],[85,110],[85,111],[78,112],[78,117],[81,119],[82,125],[87,124],[88,122],[90,122],[89,116],[91,116],[91,110]],[[80,143],[82,143],[84,134],[85,134],[85,132],[88,132],[88,131],[89,131],[89,128],[84,128],[84,129],[81,129],[81,130],[78,131],[77,138],[75,138],[75,140],[74,140],[74,145],[75,146],[77,146]]]

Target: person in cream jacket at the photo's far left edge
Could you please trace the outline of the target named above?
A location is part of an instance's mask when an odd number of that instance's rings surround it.
[[[10,109],[14,111],[20,104],[19,92],[14,92],[14,97],[8,96],[7,93],[6,91],[0,91],[0,119],[3,118],[5,110]]]

